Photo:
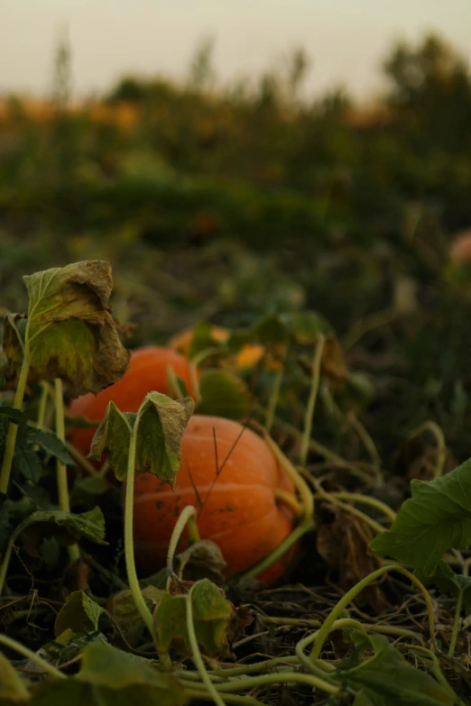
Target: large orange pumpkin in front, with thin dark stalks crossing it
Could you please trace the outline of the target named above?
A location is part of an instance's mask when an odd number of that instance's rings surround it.
[[[221,549],[227,575],[254,566],[294,526],[292,511],[277,501],[276,489],[295,495],[291,479],[260,436],[229,419],[190,417],[174,491],[151,473],[135,479],[134,552],[140,572],[154,573],[165,563],[173,527],[187,505],[198,510],[201,538]],[[187,542],[184,535],[185,546]],[[284,555],[259,578],[268,584],[277,581],[292,555]]]

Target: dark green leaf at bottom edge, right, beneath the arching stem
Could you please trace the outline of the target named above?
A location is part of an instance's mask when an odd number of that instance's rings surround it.
[[[337,681],[359,690],[356,703],[366,706],[453,706],[456,698],[429,674],[408,665],[398,650],[383,635],[358,639],[356,665],[342,670]],[[365,650],[374,656],[360,660]],[[368,701],[369,700],[369,701]]]

